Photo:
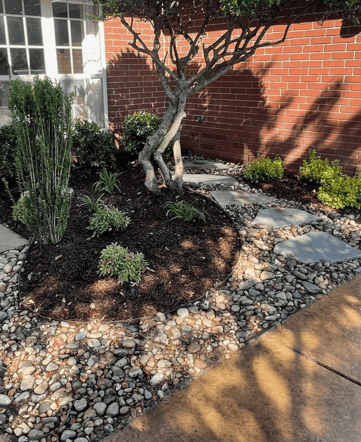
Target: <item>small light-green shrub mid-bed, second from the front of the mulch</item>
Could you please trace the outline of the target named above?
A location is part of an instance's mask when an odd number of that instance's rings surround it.
[[[124,212],[120,212],[119,209],[99,205],[90,218],[88,228],[94,232],[94,236],[98,236],[112,228],[124,228],[129,222],[130,218],[127,217]]]

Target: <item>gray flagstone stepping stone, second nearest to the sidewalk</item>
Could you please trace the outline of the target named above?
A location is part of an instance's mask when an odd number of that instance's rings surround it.
[[[281,209],[272,207],[271,209],[259,210],[252,224],[259,224],[269,228],[286,227],[287,225],[302,225],[310,221],[319,221],[320,217],[311,215],[299,209]]]

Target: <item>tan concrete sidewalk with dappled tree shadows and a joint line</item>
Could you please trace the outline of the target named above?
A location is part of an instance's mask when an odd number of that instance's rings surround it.
[[[104,442],[360,442],[361,275]]]

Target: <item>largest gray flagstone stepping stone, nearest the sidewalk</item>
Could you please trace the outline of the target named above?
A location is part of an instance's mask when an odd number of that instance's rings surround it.
[[[277,244],[273,252],[286,258],[295,257],[305,264],[348,261],[361,257],[359,250],[326,232],[309,232],[298,238],[288,239]]]

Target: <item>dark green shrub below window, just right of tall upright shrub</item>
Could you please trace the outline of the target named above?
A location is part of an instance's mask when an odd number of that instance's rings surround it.
[[[113,170],[116,166],[114,147],[112,135],[104,132],[96,123],[75,122],[72,152],[78,164]]]

